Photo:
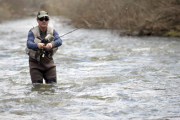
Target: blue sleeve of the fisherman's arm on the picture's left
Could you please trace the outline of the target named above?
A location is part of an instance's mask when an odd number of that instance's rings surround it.
[[[29,33],[28,33],[27,47],[29,49],[33,49],[33,50],[38,48],[37,43],[34,43],[34,34],[32,31],[29,31]]]

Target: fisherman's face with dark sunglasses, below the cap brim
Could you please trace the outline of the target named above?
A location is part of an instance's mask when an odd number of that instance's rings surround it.
[[[49,23],[49,18],[47,16],[42,18],[37,18],[37,22],[39,23],[40,28],[47,28]]]

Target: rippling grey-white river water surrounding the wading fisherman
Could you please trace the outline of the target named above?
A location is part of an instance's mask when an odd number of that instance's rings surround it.
[[[0,24],[1,120],[180,119],[180,40],[81,29],[62,37],[58,83],[33,86],[25,54],[35,18]],[[59,35],[74,28],[53,17]]]

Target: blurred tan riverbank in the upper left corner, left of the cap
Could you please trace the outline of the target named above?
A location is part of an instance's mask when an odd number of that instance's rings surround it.
[[[35,11],[41,9],[42,4],[42,0],[0,0],[0,23],[34,16]]]

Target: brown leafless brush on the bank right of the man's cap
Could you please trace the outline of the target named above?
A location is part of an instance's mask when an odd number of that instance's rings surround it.
[[[75,27],[119,30],[125,35],[180,36],[180,0],[30,1],[26,11],[33,8],[65,16]],[[4,6],[11,8],[7,3]]]

